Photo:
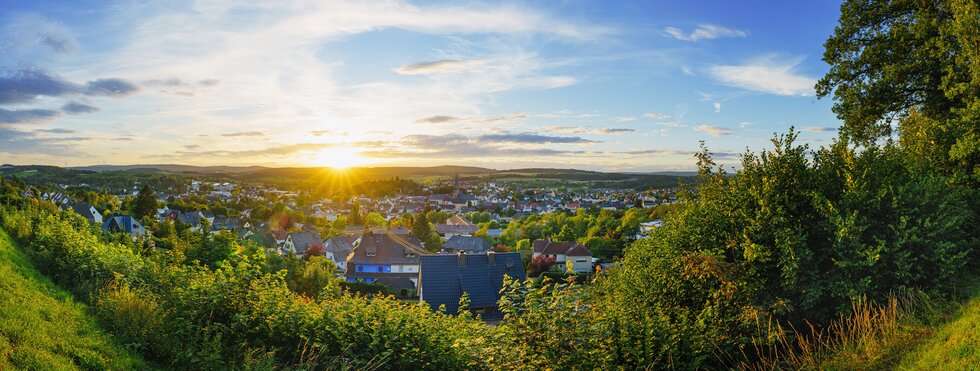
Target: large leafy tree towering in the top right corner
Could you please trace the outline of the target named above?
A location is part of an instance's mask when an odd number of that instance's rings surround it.
[[[980,11],[975,0],[849,0],[827,40],[842,135],[891,138],[959,183],[980,182]]]

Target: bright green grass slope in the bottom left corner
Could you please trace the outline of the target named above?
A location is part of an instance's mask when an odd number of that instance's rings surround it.
[[[0,230],[0,370],[147,368]]]

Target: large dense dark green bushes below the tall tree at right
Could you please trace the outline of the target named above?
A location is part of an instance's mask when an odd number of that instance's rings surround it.
[[[696,197],[600,282],[601,319],[624,329],[615,363],[704,367],[767,342],[760,323],[827,323],[854,297],[951,291],[977,244],[963,193],[894,146],[837,142],[810,160],[794,139],[746,154],[733,176],[701,154]]]

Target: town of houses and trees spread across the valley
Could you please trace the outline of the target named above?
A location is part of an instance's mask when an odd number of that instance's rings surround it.
[[[678,188],[570,190],[458,174],[403,187],[413,192],[345,198],[185,179],[158,183],[159,190],[133,180],[115,193],[58,183],[28,187],[21,196],[155,249],[172,247],[170,237],[234,239],[292,261],[283,267],[327,262],[355,293],[395,295],[452,314],[466,296],[468,309],[490,322],[502,318],[497,302],[505,276],[587,282],[660,226],[678,200]]]

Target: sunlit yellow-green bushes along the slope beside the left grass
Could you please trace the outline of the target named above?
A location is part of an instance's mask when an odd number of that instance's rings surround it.
[[[42,270],[92,298],[106,327],[173,367],[462,369],[482,351],[467,345],[487,331],[475,320],[393,298],[298,296],[282,274],[265,272],[261,254],[234,254],[212,270],[101,241],[69,213],[5,204],[0,215]]]

